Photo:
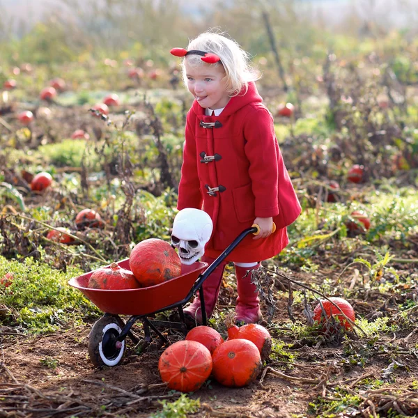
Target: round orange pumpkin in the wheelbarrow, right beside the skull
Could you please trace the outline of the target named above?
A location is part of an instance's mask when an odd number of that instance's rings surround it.
[[[181,261],[169,242],[149,238],[139,242],[129,256],[130,270],[142,287],[154,286],[181,274]]]

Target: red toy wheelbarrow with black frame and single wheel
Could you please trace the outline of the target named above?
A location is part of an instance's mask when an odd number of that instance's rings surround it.
[[[93,271],[70,279],[68,281],[70,286],[82,291],[96,307],[105,312],[104,316],[93,325],[88,337],[88,354],[91,362],[95,366],[116,366],[123,357],[126,336],[129,336],[135,344],[139,343],[139,339],[130,331],[137,320],[140,320],[144,327],[144,341],[146,343],[152,341],[150,330],[153,330],[163,343],[169,344],[167,338],[157,329],[158,327],[179,329],[186,335],[187,326],[183,306],[198,290],[201,300],[202,322],[203,325],[206,325],[203,281],[247,235],[250,233],[256,235],[258,232],[257,225],[245,229],[212,264],[208,265],[208,263],[197,261],[192,265],[182,265],[180,276],[155,286],[116,291],[88,288],[88,279]],[[117,264],[127,270],[130,268],[128,258]],[[175,308],[178,309],[180,322],[148,319],[149,316]],[[128,315],[130,318],[125,323],[120,315]]]

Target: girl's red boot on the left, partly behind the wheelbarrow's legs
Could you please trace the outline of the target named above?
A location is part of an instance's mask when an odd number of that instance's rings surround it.
[[[203,256],[201,261],[210,265],[215,261],[215,258]],[[205,310],[208,319],[210,316],[212,316],[213,309],[215,309],[217,297],[219,295],[219,288],[221,288],[225,265],[226,261],[222,262],[217,266],[217,268],[215,268],[210,276],[205,281],[203,281],[203,296],[205,297]],[[183,312],[185,314],[187,325],[196,326],[202,324],[203,321],[199,293],[194,298],[192,304],[189,304],[187,308],[183,309]]]

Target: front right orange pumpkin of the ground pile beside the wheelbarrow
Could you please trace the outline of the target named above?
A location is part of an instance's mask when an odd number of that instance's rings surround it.
[[[246,339],[225,341],[212,354],[213,377],[229,387],[242,387],[256,379],[261,370],[260,352]]]

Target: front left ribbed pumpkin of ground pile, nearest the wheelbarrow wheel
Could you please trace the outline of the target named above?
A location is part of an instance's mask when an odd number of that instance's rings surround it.
[[[197,341],[177,341],[162,353],[158,370],[169,389],[194,392],[209,377],[212,357],[208,348]]]

